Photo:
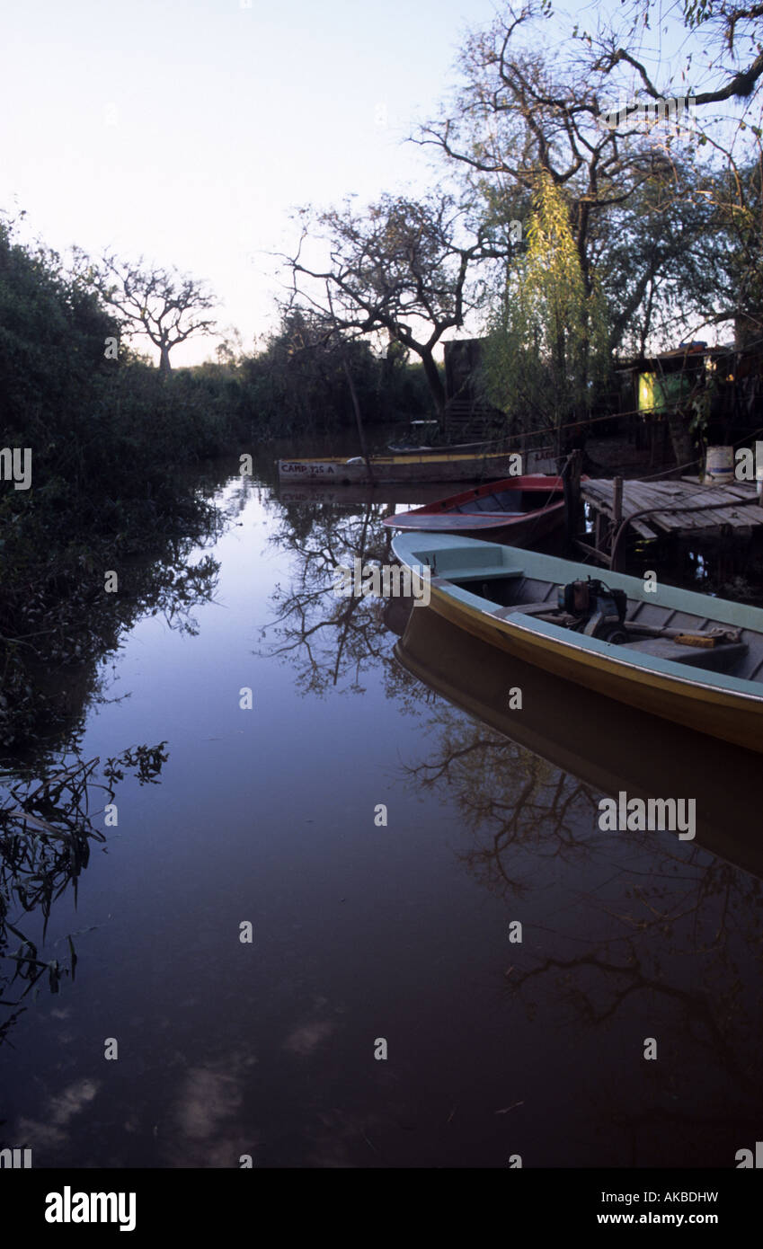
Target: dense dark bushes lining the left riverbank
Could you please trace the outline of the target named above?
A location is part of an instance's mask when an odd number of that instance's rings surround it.
[[[106,295],[81,252],[67,266],[0,222],[1,446],[29,457],[27,480],[14,480],[9,455],[0,482],[0,751],[71,733],[71,697],[41,684],[44,669],[64,666],[69,694],[94,696],[96,658],[139,615],[177,620],[179,605],[212,592],[212,562],[187,567],[216,523],[189,470],[341,428],[352,418],[345,361],[368,420],[426,411],[426,386],[393,350],[341,345],[301,312],[256,356],[229,347],[216,363],[171,370],[165,346],[154,367]]]

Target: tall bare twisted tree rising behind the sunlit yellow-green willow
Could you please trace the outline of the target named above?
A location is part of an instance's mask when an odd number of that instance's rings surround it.
[[[472,34],[461,55],[461,91],[415,141],[438,149],[482,194],[500,186],[527,197],[539,179],[551,179],[568,204],[591,295],[597,222],[642,187],[669,187],[673,160],[649,135],[623,137],[602,122],[611,66],[574,52],[552,59],[542,45],[547,16],[542,0],[528,0]]]

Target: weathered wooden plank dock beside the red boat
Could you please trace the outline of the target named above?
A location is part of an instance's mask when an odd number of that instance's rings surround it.
[[[611,568],[622,567],[626,537],[718,537],[729,532],[748,536],[763,526],[757,488],[747,482],[728,486],[701,485],[697,477],[679,481],[582,481],[581,500],[594,517],[593,546],[577,545]]]

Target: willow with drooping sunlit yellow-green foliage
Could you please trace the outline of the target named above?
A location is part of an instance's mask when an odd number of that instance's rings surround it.
[[[485,376],[491,402],[523,432],[581,421],[607,373],[607,306],[584,280],[564,196],[538,174],[526,255],[512,265],[488,320]]]

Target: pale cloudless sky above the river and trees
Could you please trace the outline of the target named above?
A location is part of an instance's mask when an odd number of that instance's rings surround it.
[[[558,5],[556,6],[559,7]],[[583,26],[596,4],[566,0]],[[612,2],[603,6],[619,11]],[[457,82],[500,0],[10,0],[0,207],[57,250],[176,265],[245,343],[272,325],[292,206],[432,184],[401,140]],[[654,36],[658,37],[658,36]],[[176,363],[214,351],[179,347]],[[184,353],[185,352],[185,353]]]

